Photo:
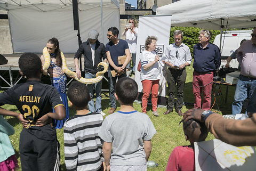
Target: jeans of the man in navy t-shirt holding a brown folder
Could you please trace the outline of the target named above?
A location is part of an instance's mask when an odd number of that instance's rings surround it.
[[[108,70],[108,86],[109,86],[109,100],[110,108],[116,108],[116,97],[115,97],[115,86],[117,78],[120,79],[126,77],[126,69],[124,69],[124,74],[121,76],[112,77],[110,70]]]

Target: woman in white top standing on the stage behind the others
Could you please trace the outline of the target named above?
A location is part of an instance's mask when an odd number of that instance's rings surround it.
[[[129,25],[128,27],[125,28],[123,35],[125,36],[125,40],[128,43],[130,52],[132,54],[132,67],[133,67],[133,72],[135,72],[137,37],[138,37],[137,20],[135,18],[132,18],[129,20]],[[130,63],[127,65],[127,68],[130,68]]]

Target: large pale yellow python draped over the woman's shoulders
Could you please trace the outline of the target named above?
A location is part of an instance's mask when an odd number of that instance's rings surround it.
[[[51,56],[50,56],[49,52],[47,51],[46,47],[44,47],[44,49],[43,49],[43,55],[44,55],[43,70],[47,70],[50,66],[50,63],[51,63]],[[62,60],[62,70],[63,70],[63,72],[65,72],[65,74],[68,77],[73,76],[75,80],[77,80],[78,82],[81,82],[83,84],[95,84],[95,83],[100,82],[100,80],[103,78],[104,73],[107,72],[107,70],[108,70],[108,64],[106,62],[100,62],[98,64],[98,67],[101,65],[101,66],[104,67],[104,70],[97,72],[96,73],[96,78],[83,78],[83,77],[81,77],[79,79],[76,76],[76,72],[70,71],[68,69],[66,59],[65,59],[65,56],[62,53],[62,51],[60,51],[60,55],[61,55],[61,60]]]

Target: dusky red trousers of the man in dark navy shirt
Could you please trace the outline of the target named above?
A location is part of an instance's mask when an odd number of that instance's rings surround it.
[[[210,74],[200,74],[196,71],[193,72],[193,94],[195,95],[194,108],[201,108],[202,91],[204,96],[202,109],[210,110],[211,108],[213,72],[209,73]]]

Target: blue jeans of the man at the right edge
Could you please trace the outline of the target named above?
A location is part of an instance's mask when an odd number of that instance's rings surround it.
[[[246,112],[256,112],[256,91],[254,91],[255,87],[256,78],[249,78],[243,75],[239,76],[236,84],[234,102],[232,103],[233,115],[241,113],[243,101],[245,99],[249,99],[249,104],[246,108]]]

